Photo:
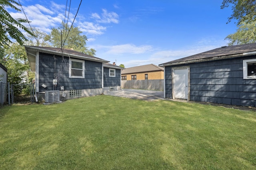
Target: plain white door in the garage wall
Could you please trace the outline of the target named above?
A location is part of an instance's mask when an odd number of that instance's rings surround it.
[[[188,99],[188,68],[173,70],[174,98]]]

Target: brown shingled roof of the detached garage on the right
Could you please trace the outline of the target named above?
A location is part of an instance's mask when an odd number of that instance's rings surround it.
[[[186,63],[196,63],[203,61],[211,61],[218,59],[227,59],[234,57],[241,57],[245,55],[251,55],[256,53],[256,43],[243,44],[243,45],[231,45],[224,46],[196,55],[191,55],[189,57],[184,57],[182,59],[170,61],[167,63],[159,64],[159,66],[168,66],[168,65],[177,65],[177,64],[186,64]]]

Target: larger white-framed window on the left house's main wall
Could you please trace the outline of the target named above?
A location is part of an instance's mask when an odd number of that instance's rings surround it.
[[[70,59],[69,77],[70,78],[84,78],[84,61]]]

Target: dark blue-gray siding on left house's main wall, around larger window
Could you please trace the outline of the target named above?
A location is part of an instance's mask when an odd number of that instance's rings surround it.
[[[60,86],[64,86],[65,90],[102,88],[102,63],[85,60],[84,78],[69,78],[68,57],[64,57],[64,60],[61,56],[54,57],[56,58],[56,79],[58,79],[56,90],[60,90]],[[54,57],[45,53],[39,55],[39,92],[53,90]],[[43,88],[42,84],[47,88]]]

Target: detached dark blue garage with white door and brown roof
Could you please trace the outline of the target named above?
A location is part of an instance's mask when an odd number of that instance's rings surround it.
[[[256,107],[256,43],[224,46],[159,64],[164,98]]]

